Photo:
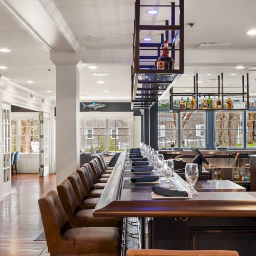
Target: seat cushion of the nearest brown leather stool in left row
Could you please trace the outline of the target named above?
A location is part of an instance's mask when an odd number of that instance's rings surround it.
[[[77,254],[118,254],[118,228],[115,227],[71,228],[63,233],[63,238],[73,242],[74,252]]]

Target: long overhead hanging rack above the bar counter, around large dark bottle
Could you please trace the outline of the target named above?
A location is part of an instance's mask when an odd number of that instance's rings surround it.
[[[141,109],[149,109],[164,91],[172,88],[184,72],[184,0],[179,0],[178,5],[175,2],[169,5],[152,5],[151,2],[148,0],[148,5],[145,1],[143,5],[140,4],[140,0],[135,2],[132,108],[135,102],[148,100],[150,104],[141,105]],[[157,25],[151,25],[152,21],[148,22],[149,19],[143,18],[143,15],[148,17],[148,14],[145,14],[148,9],[159,10],[161,15],[168,10],[169,15],[162,21],[156,14]],[[144,37],[148,35],[152,38],[143,42]],[[171,69],[157,69],[163,44],[167,46],[164,48],[167,49],[166,52],[170,53],[175,61],[175,67],[172,66]]]

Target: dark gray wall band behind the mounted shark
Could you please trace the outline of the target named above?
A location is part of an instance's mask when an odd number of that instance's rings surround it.
[[[83,102],[86,105],[92,104],[92,102]],[[96,101],[96,103],[98,103]],[[133,112],[134,116],[140,116],[139,110],[131,110],[131,102],[100,102],[105,104],[104,108],[100,109],[100,112]],[[90,112],[90,108],[83,109],[83,105],[80,102],[80,112]],[[97,110],[93,110],[92,112],[98,112]]]

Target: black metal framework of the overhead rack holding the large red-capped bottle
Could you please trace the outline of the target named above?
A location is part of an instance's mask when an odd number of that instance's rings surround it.
[[[140,8],[141,7],[169,7],[169,20],[165,20],[165,25],[140,25]],[[179,25],[175,25],[175,8],[179,8]],[[141,43],[140,31],[165,31],[161,33],[158,43]],[[170,40],[169,40],[170,31]],[[156,70],[155,66],[160,56],[161,45],[164,43],[164,36],[169,40],[169,47],[172,57],[179,53],[179,69],[175,70]],[[176,45],[179,44],[179,49]],[[142,55],[143,51],[157,51],[157,55]],[[179,5],[172,2],[170,5],[140,5],[140,0],[135,2],[135,21],[134,21],[134,51],[132,66],[132,108],[135,102],[147,102],[148,108],[152,106],[164,91],[169,90],[172,84],[184,72],[184,0],[179,0]],[[149,65],[144,65],[147,63]],[[151,64],[150,64],[151,63]],[[143,80],[148,76],[149,79]],[[147,86],[145,85],[147,84]],[[160,86],[160,88],[158,88]],[[139,97],[138,97],[139,96]],[[141,97],[141,98],[140,98]],[[153,101],[152,101],[153,99]],[[139,105],[136,105],[139,108]]]

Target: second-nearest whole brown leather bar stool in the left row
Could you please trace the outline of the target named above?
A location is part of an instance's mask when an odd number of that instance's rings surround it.
[[[93,209],[83,209],[76,198],[75,191],[69,180],[62,181],[58,186],[58,195],[69,222],[75,227],[119,227],[117,218],[95,218]]]

